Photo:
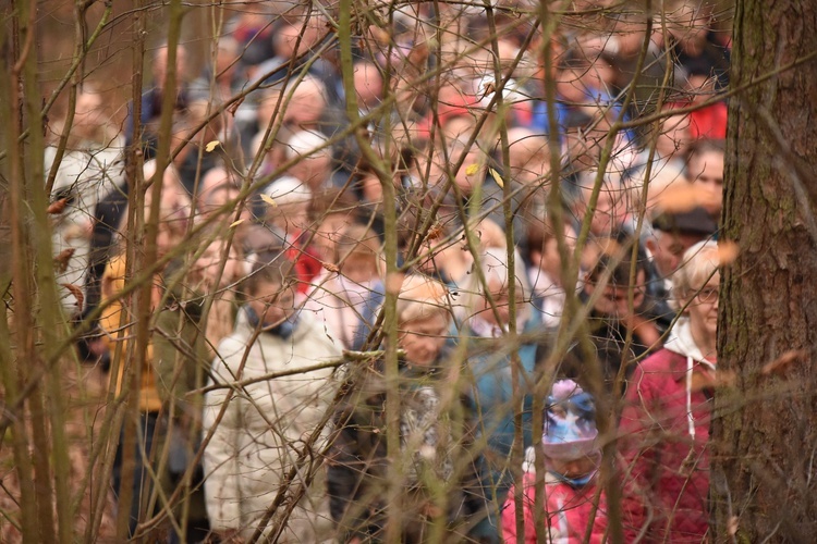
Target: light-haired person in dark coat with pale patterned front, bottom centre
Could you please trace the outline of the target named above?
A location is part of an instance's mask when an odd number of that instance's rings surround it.
[[[342,543],[383,542],[394,520],[388,489],[402,490],[398,533],[404,543],[465,540],[485,510],[474,465],[475,420],[464,397],[452,392],[458,373],[444,349],[451,323],[446,287],[408,274],[397,306],[400,426],[387,424],[385,361],[365,364],[341,403],[329,465],[332,519]],[[388,435],[399,432],[400,452]],[[392,463],[402,482],[389,482]],[[481,514],[484,516],[484,514]]]

